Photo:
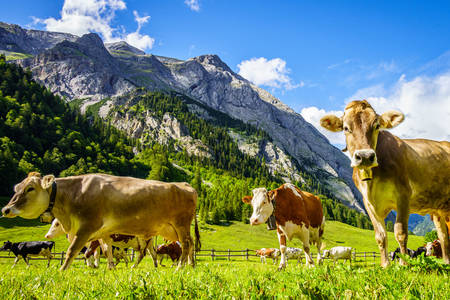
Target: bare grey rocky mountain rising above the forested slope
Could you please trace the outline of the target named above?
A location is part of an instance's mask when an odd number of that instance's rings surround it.
[[[267,133],[255,138],[229,132],[241,152],[264,161],[273,175],[314,184],[328,196],[362,211],[348,158],[300,114],[233,72],[217,55],[182,61],[147,55],[125,42],[104,45],[93,33],[79,38],[68,35],[64,39],[64,34],[29,31],[5,23],[0,28],[0,49],[14,49],[28,57],[14,62],[29,68],[33,77],[50,91],[67,101],[75,100],[82,111],[95,107],[100,116],[123,129],[130,124],[134,124],[132,128],[142,126],[142,130],[132,132],[137,138],[145,138],[144,132],[148,135],[163,130],[168,133],[168,143],[175,140],[181,145],[185,131],[172,130],[177,121],[170,114],[153,125],[151,118],[110,114],[118,105],[133,103],[133,91],[140,87],[181,95],[192,100],[189,110],[205,120],[211,118],[205,109],[210,108]],[[42,41],[39,44],[35,40]],[[11,41],[16,47],[11,46]],[[198,141],[194,143],[202,148]],[[210,152],[204,147],[203,150],[205,155]],[[314,182],[307,182],[308,178]]]

